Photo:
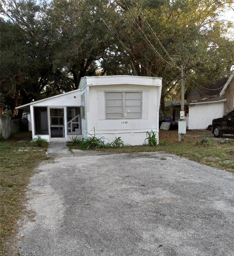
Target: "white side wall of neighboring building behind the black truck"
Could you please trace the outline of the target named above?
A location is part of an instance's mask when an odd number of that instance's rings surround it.
[[[189,106],[189,130],[206,129],[214,118],[222,117],[224,102]]]

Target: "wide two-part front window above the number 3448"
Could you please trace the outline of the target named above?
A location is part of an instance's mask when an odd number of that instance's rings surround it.
[[[142,118],[142,92],[106,92],[106,119]]]

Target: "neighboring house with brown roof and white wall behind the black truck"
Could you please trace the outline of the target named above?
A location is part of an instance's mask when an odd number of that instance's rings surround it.
[[[206,129],[214,118],[222,117],[234,109],[234,73],[212,84],[209,87],[211,90],[201,89],[191,90],[185,95],[185,120],[187,128],[191,130]],[[172,120],[178,120],[180,104],[171,106]]]

